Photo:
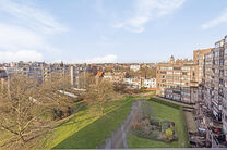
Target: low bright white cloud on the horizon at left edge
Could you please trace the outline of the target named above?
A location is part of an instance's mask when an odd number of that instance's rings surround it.
[[[41,53],[31,50],[22,51],[0,51],[0,62],[17,62],[17,61],[44,61]]]

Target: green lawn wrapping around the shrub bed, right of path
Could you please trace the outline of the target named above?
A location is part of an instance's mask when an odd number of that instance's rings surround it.
[[[146,101],[152,104],[152,109],[159,120],[169,120],[175,122],[175,129],[178,136],[178,141],[166,143],[157,140],[151,140],[145,138],[139,138],[134,135],[128,137],[129,148],[187,148],[189,147],[186,126],[182,120],[182,112],[179,109],[167,107],[154,101]]]

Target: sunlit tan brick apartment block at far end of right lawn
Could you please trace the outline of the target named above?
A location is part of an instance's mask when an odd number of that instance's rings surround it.
[[[157,95],[167,99],[194,103],[198,93],[198,65],[192,60],[175,60],[158,63]],[[194,95],[194,96],[193,96]]]

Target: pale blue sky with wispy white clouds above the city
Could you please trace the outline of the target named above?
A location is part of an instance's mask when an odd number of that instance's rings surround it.
[[[0,62],[151,63],[227,35],[227,0],[0,0]]]

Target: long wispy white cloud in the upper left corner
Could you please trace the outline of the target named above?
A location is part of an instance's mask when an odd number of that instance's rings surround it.
[[[48,12],[34,3],[28,3],[28,1],[0,0],[0,11],[19,20],[19,24],[35,30],[39,29],[48,34],[68,30],[67,27],[58,23]]]

